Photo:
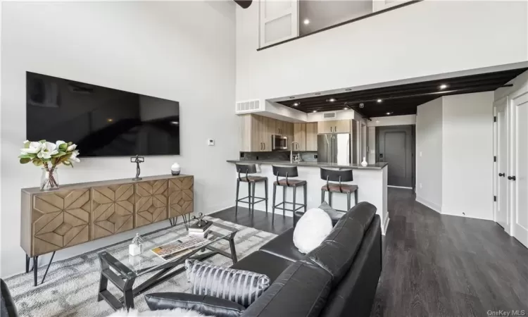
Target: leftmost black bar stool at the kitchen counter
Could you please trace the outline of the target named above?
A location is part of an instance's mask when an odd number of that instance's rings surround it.
[[[237,199],[234,203],[234,215],[237,216],[239,211],[239,202],[248,204],[249,211],[251,212],[251,206],[253,206],[253,211],[255,211],[256,203],[266,201],[266,213],[268,213],[268,178],[265,176],[249,176],[249,174],[257,173],[257,166],[255,164],[235,164],[235,166],[237,167],[239,177],[237,178]],[[246,174],[246,176],[240,175],[241,173]],[[239,198],[240,182],[248,183],[247,197]],[[255,197],[255,185],[257,182],[264,182],[265,198]],[[256,198],[259,200],[255,201]],[[248,201],[243,201],[244,199],[248,199]]]

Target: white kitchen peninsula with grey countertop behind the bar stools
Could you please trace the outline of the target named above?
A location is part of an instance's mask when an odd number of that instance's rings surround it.
[[[261,160],[230,160],[229,163],[241,163],[241,164],[257,164],[260,168],[259,175],[268,177],[268,211],[272,211],[272,194],[273,194],[273,182],[276,180],[276,176],[273,175],[272,165],[275,166],[298,166],[298,180],[306,180],[307,185],[307,199],[308,209],[317,208],[321,204],[321,187],[326,184],[325,180],[320,178],[320,168],[337,168],[353,169],[353,182],[350,184],[358,185],[358,201],[368,201],[375,205],[377,208],[377,214],[382,220],[382,230],[385,233],[386,226],[389,224],[389,215],[387,213],[387,170],[389,166],[387,163],[375,163],[367,166],[360,166],[358,164],[338,164],[338,163],[324,163],[324,162],[294,162],[290,161],[261,161]],[[235,175],[237,171],[233,169]],[[264,197],[264,185],[258,183],[255,188],[256,197]],[[280,189],[280,190],[279,190]],[[297,189],[297,201],[303,201],[303,189]],[[240,197],[247,196],[247,187],[244,184],[240,185]],[[293,189],[287,189],[286,200],[293,200]],[[328,194],[326,195],[328,200]],[[234,197],[233,197],[234,201]],[[277,204],[282,199],[282,188],[277,188]],[[353,197],[352,202],[353,206]],[[247,204],[239,204],[239,206],[246,207]],[[255,204],[255,209],[265,211],[265,201]],[[287,205],[287,208],[291,209],[291,204]],[[346,194],[334,193],[332,194],[332,207],[338,210],[346,209]],[[275,213],[282,214],[282,209],[275,209]],[[291,211],[286,211],[287,216],[291,216]]]

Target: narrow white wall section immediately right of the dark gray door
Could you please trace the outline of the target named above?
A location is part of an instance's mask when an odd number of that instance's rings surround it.
[[[417,108],[416,201],[442,208],[442,99]]]

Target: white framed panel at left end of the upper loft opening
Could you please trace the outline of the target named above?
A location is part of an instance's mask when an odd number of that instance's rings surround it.
[[[260,0],[260,47],[298,37],[298,0]]]

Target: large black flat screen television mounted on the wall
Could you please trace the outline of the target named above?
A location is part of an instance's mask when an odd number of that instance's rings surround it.
[[[180,154],[180,104],[27,72],[26,137],[74,142],[80,156]]]

